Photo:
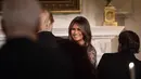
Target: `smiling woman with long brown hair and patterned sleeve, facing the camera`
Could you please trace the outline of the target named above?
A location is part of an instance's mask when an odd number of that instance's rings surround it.
[[[95,66],[97,63],[97,52],[91,44],[91,29],[90,24],[84,16],[75,17],[68,27],[68,38],[70,41],[78,43],[87,49],[88,57]]]

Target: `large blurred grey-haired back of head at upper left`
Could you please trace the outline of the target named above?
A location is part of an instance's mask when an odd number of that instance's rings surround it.
[[[36,0],[4,0],[2,28],[5,35],[36,32],[40,5]]]

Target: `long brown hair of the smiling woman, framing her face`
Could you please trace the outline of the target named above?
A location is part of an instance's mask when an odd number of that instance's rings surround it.
[[[88,19],[84,16],[77,16],[75,17],[70,24],[69,24],[69,27],[68,27],[68,37],[69,37],[69,40],[73,40],[72,36],[70,36],[70,30],[72,30],[72,27],[77,24],[78,27],[80,28],[81,32],[82,32],[82,36],[84,36],[84,40],[85,40],[85,43],[87,45],[91,44],[91,29],[90,29],[90,24],[88,22]]]

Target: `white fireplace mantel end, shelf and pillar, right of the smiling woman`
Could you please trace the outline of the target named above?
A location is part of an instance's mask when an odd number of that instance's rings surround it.
[[[115,51],[113,52],[113,49],[117,49],[115,45],[118,43],[115,42],[117,39],[115,40],[114,38],[118,37],[124,28],[125,27],[123,26],[95,26],[94,28],[91,28],[92,44],[97,50],[98,64],[104,53],[115,53]],[[113,40],[115,44],[113,44]]]

